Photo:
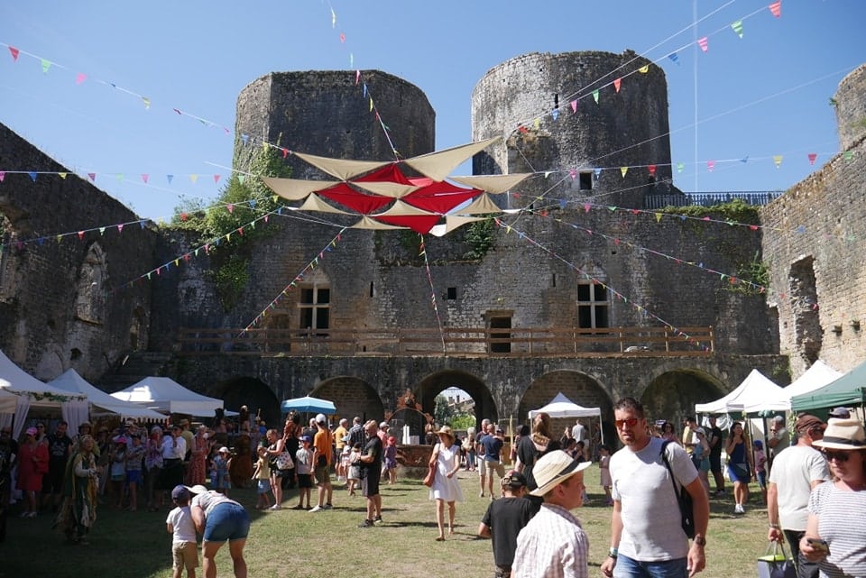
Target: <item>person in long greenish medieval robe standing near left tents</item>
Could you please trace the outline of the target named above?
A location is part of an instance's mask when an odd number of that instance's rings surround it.
[[[81,436],[75,453],[69,458],[64,476],[63,506],[54,522],[67,539],[76,544],[88,544],[90,528],[97,519],[97,492],[99,473],[93,453],[95,441]]]

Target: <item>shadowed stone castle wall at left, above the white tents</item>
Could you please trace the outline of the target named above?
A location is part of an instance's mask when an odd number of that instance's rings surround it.
[[[38,378],[96,379],[147,347],[150,283],[124,284],[150,268],[158,235],[2,124],[0,165],[53,173],[0,184],[0,349]]]

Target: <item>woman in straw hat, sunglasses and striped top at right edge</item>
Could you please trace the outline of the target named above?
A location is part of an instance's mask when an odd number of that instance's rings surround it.
[[[806,535],[800,552],[817,562],[822,576],[866,576],[866,435],[858,419],[830,419],[812,445],[830,464],[833,481],[809,495]],[[860,520],[860,521],[857,521]]]

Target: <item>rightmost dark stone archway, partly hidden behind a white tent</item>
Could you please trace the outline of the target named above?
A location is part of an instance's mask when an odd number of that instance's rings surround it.
[[[656,376],[640,396],[650,422],[667,419],[677,431],[686,416],[695,415],[695,404],[721,398],[727,391],[712,375],[696,369],[677,369]]]

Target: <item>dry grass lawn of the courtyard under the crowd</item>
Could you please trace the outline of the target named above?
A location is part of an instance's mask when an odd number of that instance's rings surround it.
[[[315,514],[283,509],[262,513],[253,509],[252,490],[234,490],[250,511],[253,527],[245,557],[253,577],[327,578],[357,575],[364,578],[429,578],[430,576],[490,576],[490,542],[475,537],[488,498],[478,497],[476,472],[460,472],[465,501],[457,504],[456,536],[436,542],[436,520],[428,489],[417,480],[382,486],[382,518],[378,528],[357,528],[365,517],[364,498],[346,495],[336,486],[334,509]],[[598,469],[585,473],[590,503],[576,510],[590,539],[590,575],[598,575],[607,555],[611,509],[603,505]],[[498,484],[497,479],[494,484]],[[745,516],[733,515],[733,500],[711,500],[705,578],[736,578],[755,574],[755,559],[764,553],[766,510],[752,484],[751,505]],[[671,490],[672,491],[672,490]],[[314,499],[315,500],[315,499]],[[283,506],[297,503],[287,492]],[[314,501],[315,503],[315,501]],[[15,515],[14,510],[13,515]],[[10,518],[8,536],[0,544],[0,576],[66,578],[150,578],[171,575],[171,537],[165,531],[168,509],[130,513],[109,508],[98,511],[89,546],[69,546],[51,530],[51,517]],[[664,531],[664,530],[659,530]],[[199,557],[200,564],[200,557]],[[217,557],[220,576],[232,576],[228,547]],[[201,575],[201,567],[198,568]]]

